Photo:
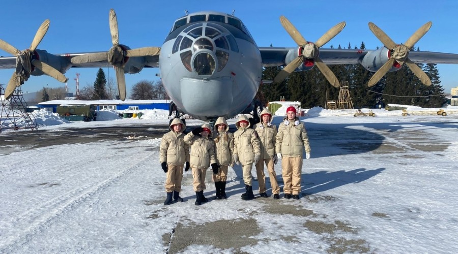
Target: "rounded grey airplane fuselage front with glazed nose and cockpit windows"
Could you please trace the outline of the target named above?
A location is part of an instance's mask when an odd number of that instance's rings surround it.
[[[161,47],[159,69],[180,111],[201,120],[232,118],[252,102],[262,58],[238,18],[198,12],[175,21]]]

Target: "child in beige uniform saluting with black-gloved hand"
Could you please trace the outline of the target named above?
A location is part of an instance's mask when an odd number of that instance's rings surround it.
[[[210,138],[209,138],[210,137]],[[208,202],[204,196],[205,176],[209,166],[213,171],[218,170],[215,157],[215,142],[212,137],[210,125],[205,123],[197,127],[184,137],[184,142],[191,146],[189,163],[192,168],[193,187],[195,192],[195,205]]]

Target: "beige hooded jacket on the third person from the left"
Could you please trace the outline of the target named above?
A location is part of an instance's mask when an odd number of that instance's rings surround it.
[[[218,132],[218,124],[225,124],[223,132]],[[232,153],[234,151],[234,134],[229,132],[229,125],[224,117],[218,117],[215,122],[214,131],[216,161],[219,166],[228,166],[233,164]]]

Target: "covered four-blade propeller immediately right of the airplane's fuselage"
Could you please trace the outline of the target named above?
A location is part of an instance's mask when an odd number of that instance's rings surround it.
[[[277,76],[274,78],[275,83],[280,83],[283,81],[288,75],[290,75],[296,68],[302,65],[306,60],[311,60],[314,64],[318,67],[318,69],[323,73],[325,78],[331,83],[334,87],[339,87],[340,83],[337,80],[337,77],[334,73],[329,69],[329,67],[320,59],[318,56],[320,53],[320,47],[325,45],[329,42],[332,38],[334,38],[342,29],[344,29],[346,23],[340,22],[336,24],[334,27],[329,29],[320,39],[318,39],[315,43],[307,42],[296,27],[284,16],[280,16],[281,25],[287,30],[288,34],[290,34],[291,38],[302,48],[301,55],[299,55],[296,59],[292,62],[288,63],[287,66],[281,70]]]

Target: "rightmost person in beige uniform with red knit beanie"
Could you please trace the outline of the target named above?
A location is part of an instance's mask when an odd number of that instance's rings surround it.
[[[301,193],[302,151],[310,158],[310,145],[303,122],[296,117],[296,108],[287,108],[287,117],[278,126],[275,151],[281,160],[284,198],[299,199]],[[291,196],[293,194],[293,196]]]

